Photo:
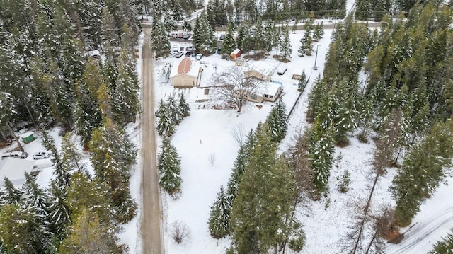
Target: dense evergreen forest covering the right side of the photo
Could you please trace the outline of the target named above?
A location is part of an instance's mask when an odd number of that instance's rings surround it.
[[[385,231],[408,226],[447,175],[453,158],[451,21],[450,8],[428,2],[416,4],[407,20],[384,16],[379,31],[348,16],[333,33],[323,76],[309,94],[306,117],[313,125],[306,150],[314,197],[319,197],[328,191],[333,146],[347,145],[356,130],[367,142],[374,131],[375,178],[364,213],[350,233],[352,253],[363,246],[365,231],[374,235],[365,248],[382,248],[379,238]],[[365,82],[358,78],[360,71],[367,75]],[[399,166],[391,185],[396,207],[372,214],[374,186],[393,166]],[[379,223],[370,224],[371,218]]]

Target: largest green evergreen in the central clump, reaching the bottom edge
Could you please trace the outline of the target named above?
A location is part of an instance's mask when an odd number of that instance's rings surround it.
[[[291,219],[296,183],[265,129],[257,128],[257,142],[233,202],[231,238],[238,253],[267,252],[297,228]]]

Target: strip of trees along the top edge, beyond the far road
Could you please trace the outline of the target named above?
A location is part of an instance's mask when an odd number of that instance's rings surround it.
[[[183,16],[190,16],[193,11],[204,6],[204,1],[199,0],[172,0],[134,1],[134,8],[138,13],[147,16],[162,13],[172,13],[175,21],[181,21]],[[300,1],[292,0],[280,3],[275,0],[268,1],[231,1],[231,0],[210,0],[206,5],[209,23],[217,26],[225,26],[227,23],[242,23],[249,21],[255,23],[258,18],[272,21],[289,21],[290,19],[301,20],[306,18],[310,12],[316,16],[344,18],[346,13],[346,1]]]

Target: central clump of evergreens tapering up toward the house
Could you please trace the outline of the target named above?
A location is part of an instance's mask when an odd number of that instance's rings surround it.
[[[302,250],[304,233],[294,218],[297,177],[289,159],[277,154],[287,132],[280,99],[265,123],[248,132],[241,144],[226,190],[212,204],[211,236],[233,239],[231,253],[260,253],[270,248]],[[256,183],[260,183],[257,185]]]

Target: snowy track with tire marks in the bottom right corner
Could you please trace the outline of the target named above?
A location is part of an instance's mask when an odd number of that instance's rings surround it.
[[[449,231],[453,227],[453,207],[445,207],[437,211],[431,212],[430,217],[425,217],[425,220],[418,221],[417,224],[410,228],[404,233],[403,241],[399,244],[389,243],[386,248],[388,254],[399,254],[399,253],[420,253],[420,247],[427,247],[428,245],[432,249],[432,245],[436,241],[429,241],[432,233],[435,233],[438,229],[447,228]]]

